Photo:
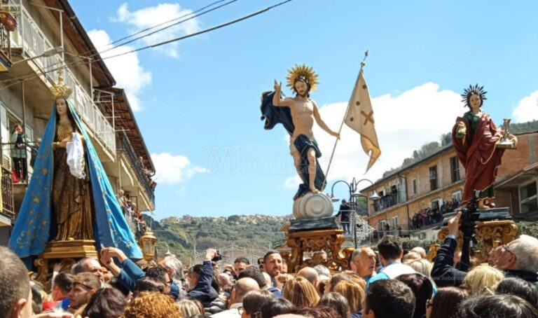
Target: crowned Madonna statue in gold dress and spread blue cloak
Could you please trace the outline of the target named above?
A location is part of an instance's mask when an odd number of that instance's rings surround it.
[[[36,156],[34,173],[9,247],[21,258],[43,252],[46,242],[95,240],[142,258],[81,119],[69,104],[71,88],[59,77]]]

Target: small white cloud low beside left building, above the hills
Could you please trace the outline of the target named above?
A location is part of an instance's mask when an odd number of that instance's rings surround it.
[[[151,160],[156,168],[155,181],[159,184],[181,184],[195,174],[209,172],[204,167],[191,165],[191,161],[184,155],[152,153]]]

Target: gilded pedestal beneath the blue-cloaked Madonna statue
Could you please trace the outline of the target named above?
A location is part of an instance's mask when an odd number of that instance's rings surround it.
[[[45,251],[34,261],[38,268],[36,280],[46,282],[49,278],[49,261],[57,259],[65,267],[75,263],[76,258],[99,258],[94,240],[53,241],[45,244]]]

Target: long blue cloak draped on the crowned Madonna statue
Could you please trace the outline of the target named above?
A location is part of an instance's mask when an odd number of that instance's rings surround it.
[[[95,208],[95,221],[93,233],[96,248],[118,247],[129,258],[142,258],[135,235],[131,232],[123,216],[118,200],[112,191],[106,172],[97,156],[92,141],[88,136],[81,119],[69,104],[69,111],[73,115],[78,129],[85,139],[85,154],[88,160],[90,183],[92,186],[93,207]],[[53,186],[53,141],[56,128],[56,103],[53,104],[53,113],[48,120],[45,132],[41,138],[41,146],[34,164],[34,174],[28,185],[25,198],[22,200],[15,226],[9,240],[9,247],[20,258],[32,264],[32,256],[43,253],[45,243],[53,239],[55,226],[51,222],[52,186]]]

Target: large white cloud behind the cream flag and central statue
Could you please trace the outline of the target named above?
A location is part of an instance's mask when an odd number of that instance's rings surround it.
[[[456,117],[464,113],[460,99],[457,92],[439,90],[439,85],[434,83],[425,83],[400,95],[373,98],[375,129],[381,147],[378,162],[364,174],[368,157],[361,148],[360,136],[344,125],[329,171],[329,183],[352,177],[375,181],[383,172],[401,165],[413,150],[429,141],[439,141],[441,134],[452,129]],[[320,107],[322,119],[331,130],[340,127],[346,106],[347,102],[337,102]],[[320,164],[326,172],[335,139],[317,125],[314,134],[322,151]],[[296,182],[295,177],[289,178],[284,188],[295,188]],[[366,186],[365,182],[359,188]]]

